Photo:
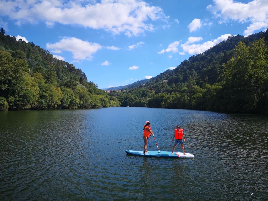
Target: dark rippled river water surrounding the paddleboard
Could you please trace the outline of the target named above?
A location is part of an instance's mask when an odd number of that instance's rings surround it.
[[[151,122],[162,151],[180,124],[194,159],[126,155]],[[1,111],[0,200],[267,200],[268,118],[103,108]],[[157,150],[150,139],[148,150]],[[175,151],[181,151],[177,147]]]

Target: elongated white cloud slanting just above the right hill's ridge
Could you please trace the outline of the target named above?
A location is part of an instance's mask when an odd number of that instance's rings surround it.
[[[232,34],[224,34],[218,37],[217,39],[207,41],[202,44],[189,45],[186,42],[184,44],[181,44],[181,47],[183,48],[184,52],[188,52],[189,54],[199,54],[215,46],[216,44],[226,40],[229,36],[232,36]]]

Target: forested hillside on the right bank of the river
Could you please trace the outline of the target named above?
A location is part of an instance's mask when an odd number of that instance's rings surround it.
[[[267,39],[268,30],[231,36],[117,98],[122,106],[268,114]]]

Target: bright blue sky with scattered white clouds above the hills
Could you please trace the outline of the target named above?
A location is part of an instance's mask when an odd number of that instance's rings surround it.
[[[150,79],[231,35],[268,28],[268,0],[0,0],[0,27],[100,89]]]

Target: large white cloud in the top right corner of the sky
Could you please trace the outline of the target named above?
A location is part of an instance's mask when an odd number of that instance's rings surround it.
[[[239,23],[250,22],[244,30],[244,35],[251,35],[256,30],[268,27],[268,1],[254,0],[248,3],[233,0],[214,0],[214,5],[208,5],[216,17],[220,18],[219,24],[227,23],[228,19]]]

